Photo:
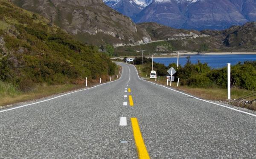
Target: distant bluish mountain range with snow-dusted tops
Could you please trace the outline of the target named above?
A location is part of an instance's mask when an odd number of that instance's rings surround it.
[[[131,0],[134,1],[134,0]],[[109,4],[113,9],[119,6]],[[129,10],[129,6],[125,10]],[[136,23],[156,22],[173,28],[223,30],[256,21],[256,0],[153,0],[138,14],[126,14]]]

